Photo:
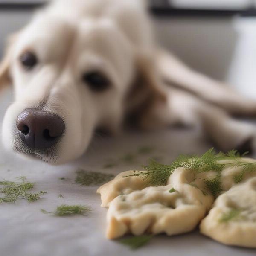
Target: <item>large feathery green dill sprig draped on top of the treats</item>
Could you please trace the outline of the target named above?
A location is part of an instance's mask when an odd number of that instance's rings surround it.
[[[245,153],[247,154],[247,152]],[[241,172],[233,177],[235,183],[241,182],[246,172],[256,170],[256,162],[247,163],[242,160],[238,151],[231,150],[224,154],[223,152],[216,153],[214,148],[210,148],[206,153],[200,155],[180,155],[170,165],[165,165],[151,159],[148,166],[143,166],[143,171],[134,171],[130,176],[139,176],[147,180],[148,184],[164,186],[174,172],[175,169],[183,167],[193,170],[197,173],[216,171],[218,175],[210,180],[205,180],[206,188],[212,192],[212,195],[217,196],[221,192],[221,171],[229,167],[241,167]],[[230,163],[223,163],[221,160],[230,160]]]

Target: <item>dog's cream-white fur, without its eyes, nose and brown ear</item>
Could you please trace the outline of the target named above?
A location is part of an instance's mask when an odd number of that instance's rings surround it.
[[[31,72],[22,70],[18,61],[27,49],[39,58]],[[144,1],[56,0],[35,15],[11,47],[9,73],[15,102],[3,121],[6,147],[12,149],[15,140],[20,140],[14,135],[18,114],[42,101],[46,101],[43,109],[61,116],[66,125],[57,157],[38,155],[46,162],[60,164],[79,157],[98,126],[118,131],[128,108],[125,104],[129,105],[124,103],[125,96],[137,74],[140,55],[149,56],[152,65],[147,64],[145,72],[153,77],[153,87],[161,87],[167,96],[167,103],[154,105],[146,121],[148,127],[156,122],[200,124],[224,150],[255,136],[253,126],[234,121],[227,113],[256,113],[256,103],[159,51]],[[82,73],[94,69],[102,70],[112,81],[112,87],[104,93],[93,93],[81,81]],[[196,96],[166,87],[161,79],[175,82]]]

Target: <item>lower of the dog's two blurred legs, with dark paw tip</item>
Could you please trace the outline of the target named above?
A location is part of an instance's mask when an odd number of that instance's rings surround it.
[[[158,126],[182,124],[202,128],[222,151],[251,151],[253,148],[254,125],[233,119],[223,109],[182,90],[170,89],[167,95],[167,103],[158,102],[146,116],[147,122],[154,120]]]

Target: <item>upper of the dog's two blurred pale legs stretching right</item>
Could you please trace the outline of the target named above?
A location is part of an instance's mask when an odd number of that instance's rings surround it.
[[[232,115],[256,116],[256,100],[242,96],[226,84],[191,70],[169,52],[157,52],[157,66],[162,78],[188,90]]]

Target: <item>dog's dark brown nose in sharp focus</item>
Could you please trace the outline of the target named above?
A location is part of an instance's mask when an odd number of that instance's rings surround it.
[[[29,148],[49,148],[64,133],[63,119],[53,113],[38,109],[25,109],[17,117],[18,134]]]

